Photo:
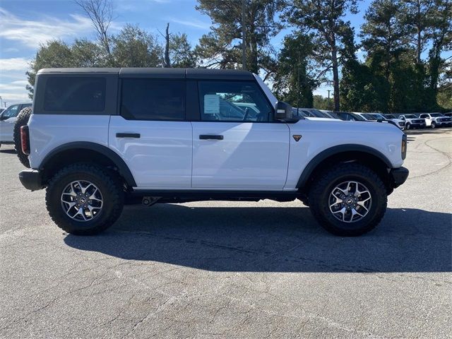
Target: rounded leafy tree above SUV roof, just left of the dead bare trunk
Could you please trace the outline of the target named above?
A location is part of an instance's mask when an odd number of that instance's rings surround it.
[[[112,61],[116,67],[161,67],[162,47],[157,38],[127,24],[112,37]]]

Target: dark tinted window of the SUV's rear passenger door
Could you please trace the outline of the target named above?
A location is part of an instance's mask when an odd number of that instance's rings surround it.
[[[185,81],[123,79],[121,116],[134,120],[184,120]]]

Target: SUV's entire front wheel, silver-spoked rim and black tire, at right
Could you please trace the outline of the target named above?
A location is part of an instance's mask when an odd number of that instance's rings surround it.
[[[355,163],[326,170],[309,191],[314,218],[328,232],[342,237],[373,230],[386,212],[387,201],[380,177]]]

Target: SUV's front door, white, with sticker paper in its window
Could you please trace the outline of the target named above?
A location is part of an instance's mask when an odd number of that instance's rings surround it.
[[[251,81],[199,81],[193,125],[194,189],[282,190],[290,131]]]

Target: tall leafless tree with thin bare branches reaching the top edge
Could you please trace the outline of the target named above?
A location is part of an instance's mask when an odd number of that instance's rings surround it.
[[[112,0],[74,0],[82,11],[90,18],[97,32],[97,37],[104,47],[107,57],[111,57],[108,29],[113,19]]]

